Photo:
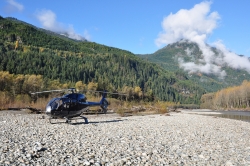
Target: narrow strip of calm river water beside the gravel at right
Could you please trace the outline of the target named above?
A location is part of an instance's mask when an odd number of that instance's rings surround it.
[[[217,113],[217,114],[216,114]],[[220,113],[220,114],[218,114]],[[250,112],[249,111],[209,111],[206,112],[207,116],[215,116],[220,118],[236,119],[241,121],[250,122]]]

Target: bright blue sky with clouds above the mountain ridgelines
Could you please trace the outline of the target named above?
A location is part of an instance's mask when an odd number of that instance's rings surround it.
[[[227,50],[250,56],[249,6],[248,0],[1,0],[0,15],[135,54],[154,53],[194,33],[205,35],[203,42],[219,41]],[[197,17],[205,8],[204,17]],[[181,13],[194,19],[186,24]]]

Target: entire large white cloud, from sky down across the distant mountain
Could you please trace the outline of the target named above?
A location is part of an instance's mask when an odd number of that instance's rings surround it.
[[[181,9],[175,14],[165,17],[162,22],[163,31],[155,40],[157,46],[170,44],[186,39],[198,44],[202,51],[200,63],[184,62],[179,58],[180,66],[190,72],[213,73],[223,78],[226,73],[221,70],[222,65],[229,65],[235,69],[245,69],[250,73],[250,62],[245,57],[240,57],[229,52],[222,42],[215,42],[214,46],[221,50],[220,55],[215,55],[206,44],[206,39],[217,28],[220,16],[217,12],[210,12],[211,2],[205,1],[196,4],[192,9]],[[187,52],[190,54],[190,50]]]

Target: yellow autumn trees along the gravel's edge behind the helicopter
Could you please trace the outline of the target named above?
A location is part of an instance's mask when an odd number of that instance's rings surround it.
[[[51,97],[45,93],[39,96],[31,95],[31,92],[40,92],[45,90],[57,90],[68,89],[75,87],[80,93],[88,93],[88,91],[100,90],[100,86],[97,82],[89,82],[84,84],[82,81],[75,83],[67,82],[62,83],[59,80],[50,80],[43,78],[42,75],[23,75],[23,74],[10,74],[8,71],[0,71],[0,109],[6,108],[4,106],[10,103],[23,102],[31,103],[37,99],[37,97],[48,98]],[[111,91],[117,92],[117,91]],[[151,92],[143,93],[139,86],[128,87],[125,86],[121,93],[126,95],[109,95],[109,97],[122,99],[122,100],[147,100],[153,101],[154,95]],[[89,93],[88,93],[89,94]],[[92,94],[93,95],[93,94]]]

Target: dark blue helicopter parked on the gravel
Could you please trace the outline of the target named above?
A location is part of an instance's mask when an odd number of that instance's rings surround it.
[[[65,89],[64,89],[65,90]],[[106,99],[107,91],[95,91],[102,92],[102,98],[99,102],[87,101],[84,94],[76,93],[75,88],[66,89],[71,93],[68,93],[62,97],[56,97],[51,99],[45,108],[45,114],[49,116],[49,121],[52,123],[52,119],[65,119],[66,123],[71,123],[71,119],[74,117],[82,117],[87,121],[87,118],[81,116],[84,112],[89,111],[89,107],[100,106],[103,113],[107,113],[108,101]],[[50,90],[42,92],[33,92],[34,94],[48,93],[48,92],[61,92],[63,90]],[[116,93],[112,93],[116,94]]]

